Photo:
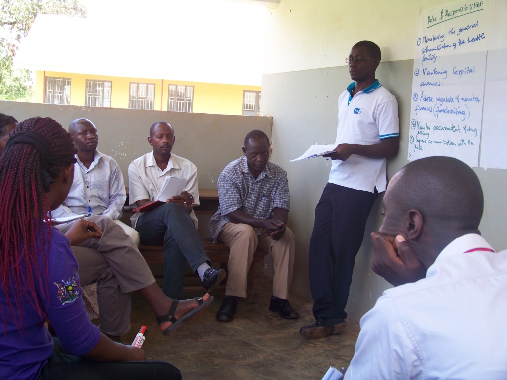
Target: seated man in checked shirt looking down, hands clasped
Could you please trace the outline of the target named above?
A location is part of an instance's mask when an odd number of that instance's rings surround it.
[[[237,298],[246,297],[246,275],[257,247],[273,256],[273,297],[269,310],[294,319],[287,300],[294,264],[295,239],[286,227],[291,199],[287,173],[268,162],[270,141],[260,130],[247,133],[243,157],[227,165],[218,179],[218,211],[209,222],[213,240],[231,250],[226,297],[216,319],[232,321]]]

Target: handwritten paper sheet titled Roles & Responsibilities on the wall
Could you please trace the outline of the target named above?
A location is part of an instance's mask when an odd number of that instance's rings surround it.
[[[454,157],[478,166],[489,2],[421,12],[416,34],[410,161]]]

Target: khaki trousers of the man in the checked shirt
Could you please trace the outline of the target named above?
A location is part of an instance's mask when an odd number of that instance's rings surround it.
[[[273,256],[273,295],[287,299],[294,265],[295,238],[288,228],[280,240],[271,239],[267,232],[258,236],[248,224],[227,223],[219,235],[219,240],[231,250],[227,267],[226,295],[246,297],[246,275],[253,254],[260,248]]]

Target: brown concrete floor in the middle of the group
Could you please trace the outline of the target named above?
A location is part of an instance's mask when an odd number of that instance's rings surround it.
[[[289,301],[300,313],[299,319],[286,320],[269,311],[271,279],[257,275],[257,303],[238,303],[232,322],[215,320],[225,296],[224,288],[211,294],[215,300],[195,319],[183,323],[169,336],[163,336],[147,303],[132,295],[131,331],[122,337],[124,343],[134,338],[141,325],[149,332],[142,346],[149,360],[165,360],[182,371],[187,380],[236,379],[317,379],[330,366],[348,366],[354,354],[359,326],[347,320],[340,335],[307,340],[299,328],[314,322],[312,300],[298,293]],[[186,292],[187,298],[204,292]]]

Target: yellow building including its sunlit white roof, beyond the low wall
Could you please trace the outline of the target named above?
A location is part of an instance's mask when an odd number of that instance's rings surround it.
[[[172,44],[171,54],[164,55],[160,40],[135,41],[131,36],[124,37],[128,35],[124,27],[127,25],[115,25],[112,45],[101,38],[104,31],[96,27],[96,20],[38,15],[21,41],[15,60],[18,67],[35,72],[34,101],[223,115],[259,114],[262,65],[257,61],[257,53],[245,49],[246,59],[240,57],[238,49],[222,46],[228,43],[222,34],[223,44],[212,51],[219,59],[213,59],[209,49],[188,41]],[[164,32],[164,29],[158,32],[162,40]],[[206,44],[212,39],[201,36],[198,40]],[[237,45],[234,41],[232,44]],[[133,46],[151,53],[132,54]],[[225,57],[230,50],[235,54]],[[185,59],[179,60],[182,56]],[[225,69],[213,63],[216,61],[222,62]]]

